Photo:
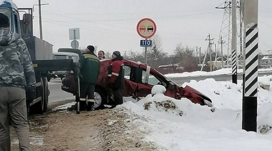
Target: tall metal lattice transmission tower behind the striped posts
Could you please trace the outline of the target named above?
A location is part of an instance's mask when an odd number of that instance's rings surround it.
[[[232,2],[231,1],[225,1],[218,7],[215,7],[217,9],[224,9],[223,19],[222,19],[222,25],[220,29],[219,34],[219,40],[218,40],[218,46],[222,45],[221,47],[218,47],[217,52],[223,52],[223,54],[220,54],[218,61],[224,60],[224,67],[232,67],[231,58],[232,58]],[[242,15],[241,15],[241,9],[240,9],[240,2],[239,0],[236,0],[236,22],[237,22],[237,56],[238,56],[238,67],[243,67],[243,29],[242,29]],[[222,38],[221,38],[222,37]],[[224,43],[223,43],[224,41]],[[222,49],[222,51],[221,51]]]

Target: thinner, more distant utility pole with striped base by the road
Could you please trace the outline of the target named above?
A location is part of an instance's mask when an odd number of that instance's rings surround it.
[[[236,0],[232,0],[232,83],[237,84]]]

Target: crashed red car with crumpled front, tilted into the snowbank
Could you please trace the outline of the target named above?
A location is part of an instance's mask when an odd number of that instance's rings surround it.
[[[180,87],[157,70],[150,68],[150,66],[136,63],[128,59],[124,59],[123,62],[125,65],[124,97],[133,97],[135,99],[146,97],[148,94],[151,94],[152,87],[159,84],[166,88],[166,92],[164,94],[166,96],[175,99],[185,97],[193,103],[212,106],[211,99],[201,92],[198,92],[188,85],[185,88]],[[107,86],[107,67],[111,63],[111,59],[100,60],[100,73],[95,88],[95,108],[99,108],[101,105],[105,104],[113,104],[113,100],[109,97]],[[64,78],[62,82],[62,90],[73,94],[75,93],[73,74],[66,74],[66,78]]]

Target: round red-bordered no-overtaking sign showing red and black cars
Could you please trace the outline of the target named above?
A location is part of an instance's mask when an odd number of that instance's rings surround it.
[[[143,38],[150,38],[156,33],[155,22],[150,18],[141,19],[136,27],[137,33]]]

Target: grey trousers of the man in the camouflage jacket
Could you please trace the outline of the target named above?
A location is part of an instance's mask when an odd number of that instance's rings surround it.
[[[0,151],[10,151],[10,122],[19,140],[19,150],[30,151],[25,91],[0,87]]]

